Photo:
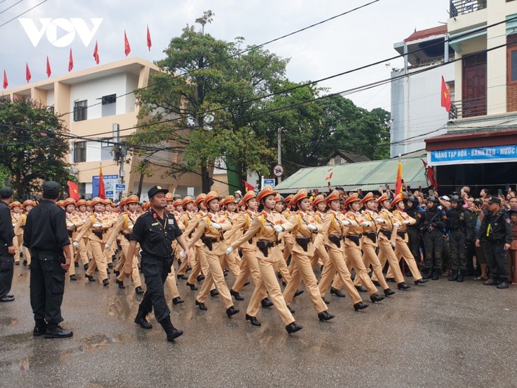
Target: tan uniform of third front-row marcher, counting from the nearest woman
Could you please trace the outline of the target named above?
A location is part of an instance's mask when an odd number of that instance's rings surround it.
[[[344,229],[341,220],[344,219],[342,213],[334,210],[326,212],[322,219],[322,232],[318,233],[314,246],[316,250],[327,249],[329,261],[324,265],[322,278],[319,280],[319,294],[325,296],[329,286],[331,285],[334,275],[340,280],[348,295],[350,295],[353,304],[362,302],[362,299],[357,292],[356,287],[353,286],[350,271],[345,263],[345,246],[344,246]],[[331,236],[331,239],[329,239]],[[321,239],[320,239],[321,237]],[[339,245],[336,244],[339,242]]]

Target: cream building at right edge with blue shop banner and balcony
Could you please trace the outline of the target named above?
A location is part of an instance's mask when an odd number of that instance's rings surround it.
[[[455,98],[447,134],[426,139],[442,192],[517,183],[517,1],[451,0]],[[515,190],[513,186],[513,190]]]

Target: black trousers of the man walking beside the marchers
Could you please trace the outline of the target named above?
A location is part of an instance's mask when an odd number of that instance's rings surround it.
[[[172,258],[142,257],[142,272],[147,291],[140,303],[139,310],[144,314],[149,314],[154,308],[154,317],[159,322],[171,314],[165,301],[164,283],[171,272],[172,260]]]

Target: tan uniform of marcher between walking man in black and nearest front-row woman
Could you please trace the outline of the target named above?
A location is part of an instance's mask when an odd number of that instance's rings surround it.
[[[212,222],[220,224],[222,229],[214,229],[211,227],[210,224],[212,224]],[[225,275],[221,268],[221,256],[226,254],[226,244],[223,233],[231,227],[232,225],[229,221],[219,213],[207,213],[205,217],[200,219],[198,229],[195,230],[192,236],[191,244],[195,244],[198,241],[201,241],[201,244],[203,244],[206,261],[209,266],[203,286],[195,298],[199,303],[205,303],[213,283],[225,304],[225,308],[228,309],[233,306],[232,296],[229,293],[228,286],[225,282]],[[201,236],[203,236],[203,241]],[[204,241],[210,241],[211,244],[206,244]]]

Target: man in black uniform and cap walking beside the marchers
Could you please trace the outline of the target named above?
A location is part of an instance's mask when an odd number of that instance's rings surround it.
[[[147,291],[138,308],[135,324],[143,329],[152,329],[152,325],[146,319],[147,314],[154,308],[154,316],[167,334],[167,341],[173,341],[183,334],[183,331],[175,329],[171,323],[171,311],[165,302],[164,283],[171,272],[174,254],[172,241],[178,240],[178,244],[186,253],[185,259],[189,262],[188,245],[176,224],[176,218],[171,212],[166,212],[166,193],[169,190],[154,186],[149,189],[147,195],[151,203],[151,209],[138,217],[130,235],[130,246],[127,257],[133,257],[140,243],[142,249],[142,272],[144,273]],[[132,273],[131,261],[126,261],[124,273],[127,278]]]

